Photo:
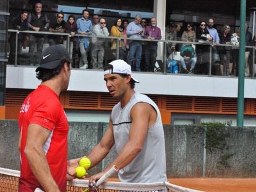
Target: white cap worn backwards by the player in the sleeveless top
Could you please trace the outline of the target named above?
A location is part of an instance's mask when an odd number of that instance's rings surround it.
[[[140,81],[135,80],[134,77],[132,77],[132,70],[130,68],[130,65],[127,64],[122,59],[117,59],[115,61],[112,61],[109,63],[109,65],[113,66],[113,69],[107,69],[104,71],[104,75],[106,74],[125,74],[125,75],[130,75],[130,77],[135,81],[135,83],[140,83]]]

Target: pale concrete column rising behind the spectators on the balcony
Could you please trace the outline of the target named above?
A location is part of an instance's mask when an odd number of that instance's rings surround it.
[[[154,17],[156,17],[156,25],[161,29],[162,40],[165,36],[165,15],[166,0],[154,0]],[[163,59],[163,43],[158,43],[157,59]]]

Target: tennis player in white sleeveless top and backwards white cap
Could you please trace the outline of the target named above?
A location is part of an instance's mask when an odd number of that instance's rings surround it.
[[[94,183],[113,165],[119,168],[121,182],[166,182],[164,131],[158,106],[148,96],[135,92],[139,81],[122,60],[105,67],[104,80],[111,96],[119,102],[113,107],[105,135],[88,155],[90,168],[101,162],[114,144],[117,156],[89,182]]]

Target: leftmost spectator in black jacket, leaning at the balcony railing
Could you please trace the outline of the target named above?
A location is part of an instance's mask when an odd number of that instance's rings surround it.
[[[12,25],[12,28],[14,30],[20,30],[25,31],[28,30],[27,25],[27,18],[28,18],[28,12],[22,11],[19,17],[15,19],[14,24]],[[18,44],[17,44],[17,56],[20,56],[20,53],[22,51],[23,41],[27,38],[26,33],[19,33],[18,35]],[[9,55],[9,64],[14,64],[15,62],[15,43],[16,43],[16,33],[11,33],[10,35],[10,55]]]

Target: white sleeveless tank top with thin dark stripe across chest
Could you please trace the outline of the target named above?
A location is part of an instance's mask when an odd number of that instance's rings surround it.
[[[142,151],[140,151],[129,165],[119,170],[119,180],[121,182],[132,183],[166,182],[163,123],[158,106],[148,96],[136,92],[123,109],[120,102],[113,107],[111,119],[113,121],[114,140],[117,152],[121,151],[129,140],[130,125],[132,123],[130,110],[137,102],[147,102],[153,106],[157,112],[157,119],[148,128]]]

